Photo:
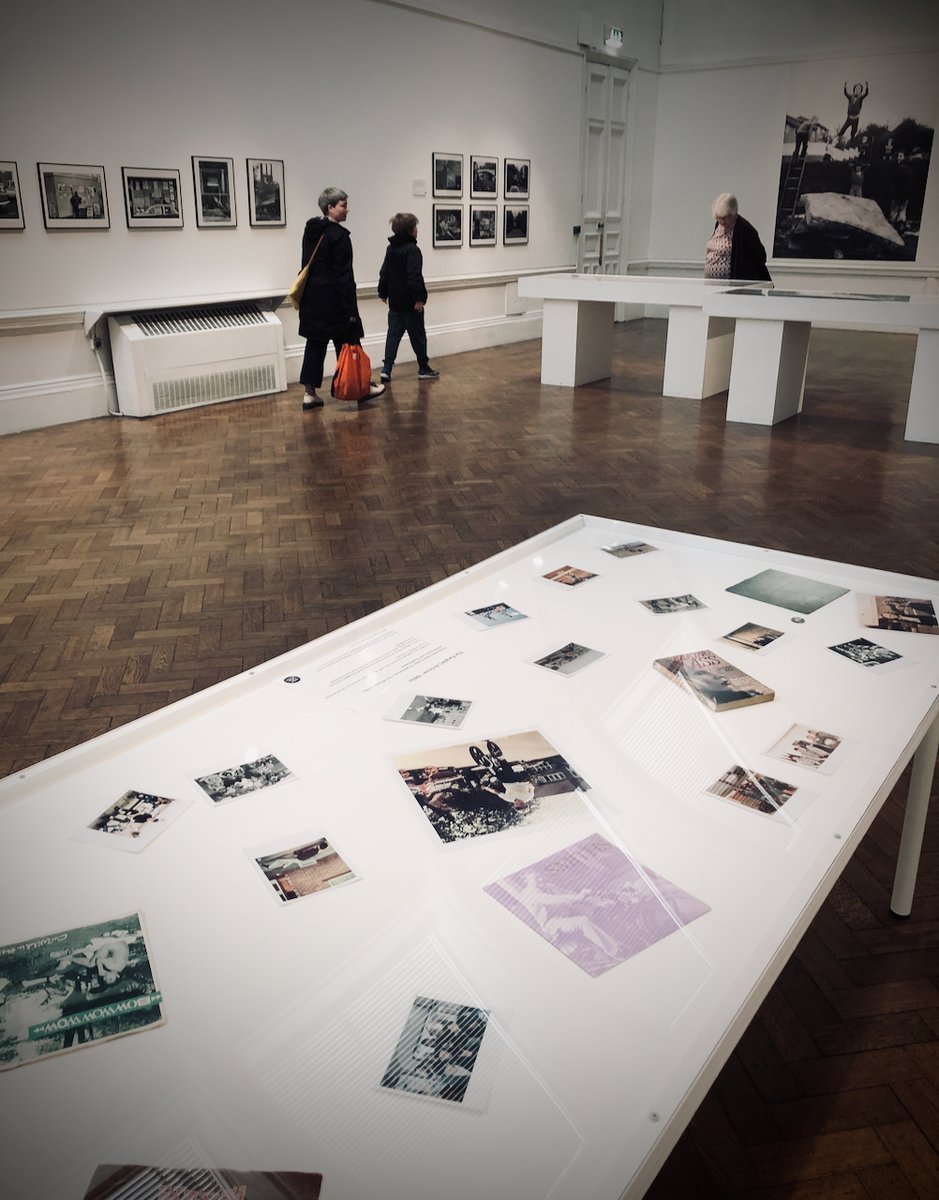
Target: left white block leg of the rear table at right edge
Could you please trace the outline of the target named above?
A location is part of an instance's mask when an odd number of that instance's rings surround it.
[[[729,421],[776,425],[802,410],[811,332],[811,322],[737,317]]]

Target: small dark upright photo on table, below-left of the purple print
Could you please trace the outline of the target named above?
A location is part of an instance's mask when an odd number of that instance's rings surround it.
[[[470,1084],[489,1016],[485,1008],[417,996],[381,1086],[482,1111],[488,1097],[476,1097]]]

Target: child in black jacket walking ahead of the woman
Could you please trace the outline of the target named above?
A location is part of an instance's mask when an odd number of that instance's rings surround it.
[[[413,212],[395,212],[391,236],[378,275],[378,295],[388,305],[388,336],[381,379],[388,383],[397,356],[397,347],[407,334],[418,360],[418,379],[438,379],[427,362],[427,335],[424,329],[424,257],[418,247],[418,218]]]

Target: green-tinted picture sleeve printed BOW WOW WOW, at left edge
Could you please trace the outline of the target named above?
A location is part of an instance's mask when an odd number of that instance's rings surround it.
[[[0,1070],[165,1021],[139,913],[0,947]]]

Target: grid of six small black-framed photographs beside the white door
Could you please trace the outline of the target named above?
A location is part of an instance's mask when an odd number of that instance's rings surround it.
[[[468,211],[468,241],[471,246],[497,246],[500,233],[506,246],[524,246],[528,242],[528,205],[519,203],[531,196],[531,160],[504,158],[500,173],[500,160],[492,155],[470,156],[470,199],[483,200],[471,204]],[[461,154],[435,152],[432,163],[435,200],[459,200],[463,196],[463,156]],[[501,208],[498,199],[502,181]],[[462,204],[433,205],[433,245],[438,248],[462,246],[465,239],[465,214]]]

